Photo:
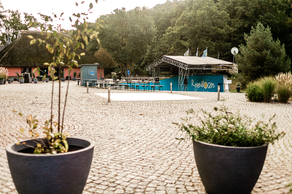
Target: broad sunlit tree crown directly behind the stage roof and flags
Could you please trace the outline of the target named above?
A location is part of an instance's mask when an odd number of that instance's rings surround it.
[[[169,54],[182,55],[188,48],[194,55],[197,47],[199,55],[208,47],[208,56],[217,57],[218,51],[226,54],[230,48],[228,41],[232,32],[228,14],[220,10],[212,0],[193,1],[185,8],[174,27],[166,30],[164,39],[171,44]],[[192,52],[192,49],[194,51]]]

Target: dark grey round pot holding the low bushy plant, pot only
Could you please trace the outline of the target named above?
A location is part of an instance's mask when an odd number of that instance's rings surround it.
[[[230,147],[193,140],[196,165],[209,194],[250,194],[262,171],[268,144]]]

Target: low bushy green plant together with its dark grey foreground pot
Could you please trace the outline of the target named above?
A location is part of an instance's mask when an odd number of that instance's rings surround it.
[[[196,165],[207,193],[250,194],[262,171],[268,143],[273,144],[285,133],[275,132],[272,119],[252,124],[250,119],[243,122],[239,112],[232,114],[225,107],[220,112],[213,116],[203,111],[200,126],[190,123],[190,118],[175,124],[193,141]]]

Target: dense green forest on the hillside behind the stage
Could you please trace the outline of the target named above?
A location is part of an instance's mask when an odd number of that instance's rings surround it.
[[[18,17],[18,12],[13,13]],[[7,24],[8,20],[2,18],[1,13],[0,19],[1,28],[5,25],[6,29],[15,28]],[[26,21],[20,22],[18,29],[28,29],[26,24],[32,20],[34,17],[27,14]],[[273,43],[271,48],[262,45],[260,49],[271,49],[274,54],[281,55],[284,62],[277,64],[288,64],[288,69],[286,66],[284,69],[291,70],[292,6],[288,0],[167,0],[151,9],[116,9],[100,16],[96,22],[104,26],[98,29],[100,43],[92,39],[86,49],[92,54],[102,49],[100,54],[112,60],[116,72],[125,72],[129,67],[133,74],[146,74],[146,66],[163,55],[183,55],[187,49],[195,55],[198,48],[202,56],[206,47],[208,56],[230,62],[233,61],[231,48],[239,48],[236,60],[242,66],[248,61],[243,60],[242,55],[252,52],[246,48],[250,40],[247,37],[258,24],[263,32],[268,29],[271,34],[268,39]],[[89,23],[89,26],[95,25]],[[249,60],[253,58],[249,56]],[[264,62],[257,60],[256,63]]]

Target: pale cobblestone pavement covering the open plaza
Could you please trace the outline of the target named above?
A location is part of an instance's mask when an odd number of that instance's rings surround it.
[[[5,147],[19,138],[24,118],[12,110],[29,114],[44,122],[49,118],[52,82],[0,86],[0,193],[17,193],[8,168]],[[67,81],[62,82],[62,96]],[[55,85],[56,86],[56,85]],[[57,94],[57,87],[54,87]],[[95,141],[93,161],[84,194],[145,193],[145,194],[203,194],[191,140],[179,143],[175,138],[184,134],[172,124],[181,122],[187,110],[204,108],[212,111],[221,104],[229,111],[258,120],[276,114],[279,131],[286,136],[269,145],[265,164],[252,193],[288,193],[285,185],[292,181],[292,106],[247,102],[242,93],[221,93],[217,102],[215,92],[173,92],[204,100],[107,102],[93,93],[106,89],[86,88],[70,82],[65,113],[66,132],[71,136]],[[112,92],[133,92],[112,90]],[[136,92],[136,91],[135,91]],[[168,92],[168,91],[163,91]],[[62,105],[64,100],[61,101]],[[57,97],[54,97],[57,110]],[[200,113],[199,113],[200,114]],[[56,115],[56,111],[55,111]],[[194,123],[199,123],[194,119]],[[28,134],[22,138],[28,138]]]

